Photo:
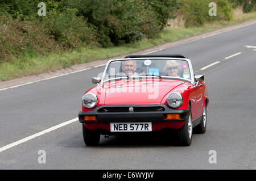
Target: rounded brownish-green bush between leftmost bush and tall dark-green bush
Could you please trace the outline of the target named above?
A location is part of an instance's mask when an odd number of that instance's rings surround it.
[[[96,31],[89,27],[82,16],[76,16],[76,9],[63,12],[52,10],[42,17],[47,35],[55,39],[63,49],[79,48],[82,45],[95,45]]]

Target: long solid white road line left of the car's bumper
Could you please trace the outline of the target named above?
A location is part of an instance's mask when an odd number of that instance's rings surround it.
[[[11,144],[9,144],[9,145],[3,146],[2,148],[0,148],[0,153],[1,153],[2,151],[7,150],[7,149],[13,148],[13,147],[16,146],[16,145],[20,145],[20,144],[22,144],[23,142],[32,140],[32,139],[34,139],[34,138],[36,138],[36,137],[42,136],[43,134],[46,134],[46,133],[49,133],[49,132],[51,132],[51,131],[54,131],[54,130],[56,130],[56,129],[58,129],[58,128],[64,127],[65,125],[71,124],[71,123],[73,123],[73,122],[75,122],[75,121],[78,121],[78,120],[79,120],[78,117],[76,117],[75,119],[72,119],[72,120],[69,120],[69,121],[65,121],[64,123],[61,123],[61,124],[58,124],[58,125],[56,125],[56,126],[54,126],[54,127],[48,128],[48,129],[46,129],[46,130],[44,130],[44,131],[42,131],[42,132],[33,134],[33,135],[31,135],[31,136],[28,136],[28,137],[26,137],[26,138],[23,138],[22,140],[15,141],[15,142],[13,142],[13,143],[11,143]]]

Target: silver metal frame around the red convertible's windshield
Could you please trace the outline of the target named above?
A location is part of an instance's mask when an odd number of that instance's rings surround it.
[[[186,79],[186,78],[182,78],[182,77],[171,77],[171,76],[161,76],[161,77],[162,78],[167,78],[167,79],[178,79],[178,80],[181,80],[181,81],[190,82],[192,85],[195,85],[195,78],[194,78],[194,73],[193,73],[193,69],[192,69],[191,60],[189,60],[188,58],[170,58],[170,57],[121,58],[121,59],[109,60],[108,63],[106,64],[106,66],[105,66],[104,73],[102,74],[100,85],[104,84],[105,82],[112,81],[113,79],[117,79],[117,78],[110,78],[110,79],[104,80],[104,77],[106,75],[106,72],[107,72],[107,70],[109,68],[109,64],[110,63],[112,63],[114,61],[146,60],[146,59],[151,59],[151,60],[183,60],[183,61],[187,61],[188,62],[188,66],[189,66],[189,72],[190,72],[191,79]],[[142,77],[148,77],[149,78],[151,76],[136,76],[136,77],[131,77],[131,78],[135,79],[135,78],[142,78]],[[152,77],[154,77],[154,76],[152,76]],[[120,79],[122,79],[122,77],[120,77]]]

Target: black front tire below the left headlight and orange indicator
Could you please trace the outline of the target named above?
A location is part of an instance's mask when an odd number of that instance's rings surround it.
[[[82,136],[86,146],[97,146],[101,135],[97,130],[89,130],[82,124]]]

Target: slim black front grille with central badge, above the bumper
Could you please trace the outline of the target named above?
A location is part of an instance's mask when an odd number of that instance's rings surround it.
[[[102,107],[98,112],[129,112],[130,107]],[[133,112],[164,111],[164,107],[133,107]]]

